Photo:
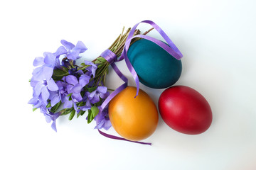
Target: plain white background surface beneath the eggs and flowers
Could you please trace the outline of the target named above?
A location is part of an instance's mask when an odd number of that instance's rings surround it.
[[[1,1],[0,169],[256,169],[255,8],[253,0]],[[89,49],[82,56],[92,60],[123,26],[145,19],[183,53],[176,85],[191,86],[210,103],[213,123],[206,132],[184,135],[160,118],[144,140],[150,147],[103,137],[86,116],[58,118],[54,132],[42,113],[32,111],[34,57],[55,52],[65,39],[82,40]],[[156,31],[150,35],[160,38]],[[118,67],[134,85],[124,62]],[[107,85],[121,84],[110,70]],[[155,103],[164,90],[141,89]]]

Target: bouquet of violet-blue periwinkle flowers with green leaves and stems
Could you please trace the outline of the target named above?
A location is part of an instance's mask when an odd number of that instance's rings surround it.
[[[109,50],[117,57],[121,55],[130,31],[131,28],[126,33],[122,32],[110,46]],[[136,30],[134,35],[139,33],[140,31]],[[105,86],[110,63],[100,56],[92,62],[85,60],[78,65],[76,62],[80,59],[80,54],[87,50],[84,43],[78,41],[73,45],[66,40],[60,42],[62,46],[58,47],[56,52],[44,52],[43,57],[36,57],[33,61],[33,66],[36,67],[30,80],[33,98],[28,103],[33,105],[33,111],[40,108],[46,121],[53,122],[51,127],[55,131],[55,120],[60,115],[69,114],[68,119],[72,120],[75,113],[78,118],[86,111],[87,123],[96,120],[97,128],[108,130],[111,123],[107,108],[98,115],[98,107],[110,95],[110,89]]]

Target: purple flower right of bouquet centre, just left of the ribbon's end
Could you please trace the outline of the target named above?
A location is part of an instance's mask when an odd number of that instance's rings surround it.
[[[95,91],[92,91],[92,93],[87,92],[87,96],[92,104],[99,102],[100,98],[107,98],[109,95],[110,93],[107,91],[106,86],[98,86]]]

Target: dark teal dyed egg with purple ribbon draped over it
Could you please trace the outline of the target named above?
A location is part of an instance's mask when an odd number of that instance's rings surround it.
[[[134,42],[127,56],[139,81],[154,89],[167,88],[181,77],[181,60],[176,60],[166,50],[149,40]]]

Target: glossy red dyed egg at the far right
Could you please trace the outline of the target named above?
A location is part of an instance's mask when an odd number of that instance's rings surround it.
[[[159,98],[164,122],[178,132],[197,135],[205,132],[213,120],[206,98],[188,86],[172,86]]]

